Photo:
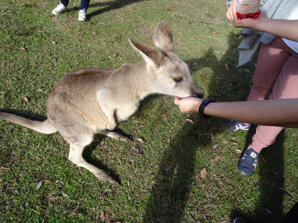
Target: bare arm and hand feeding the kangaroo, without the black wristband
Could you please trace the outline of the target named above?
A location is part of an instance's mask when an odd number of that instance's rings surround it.
[[[198,113],[202,102],[203,99],[197,97],[175,97],[174,101],[181,112],[192,113]],[[254,125],[297,128],[298,98],[213,102],[206,106],[204,114]]]

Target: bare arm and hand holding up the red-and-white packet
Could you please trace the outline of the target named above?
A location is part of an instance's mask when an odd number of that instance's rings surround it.
[[[227,10],[227,17],[235,27],[267,32],[298,42],[298,20],[271,19],[260,14],[258,18],[239,19],[236,15],[237,0]]]

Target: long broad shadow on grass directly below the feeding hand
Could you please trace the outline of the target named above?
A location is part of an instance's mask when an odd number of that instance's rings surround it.
[[[199,138],[196,125],[185,124],[161,158],[155,174],[144,222],[181,222],[192,187],[198,145],[209,144],[211,137]]]

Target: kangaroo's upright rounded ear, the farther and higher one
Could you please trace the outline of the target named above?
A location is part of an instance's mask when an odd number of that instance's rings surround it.
[[[165,22],[161,22],[157,25],[153,40],[154,45],[163,51],[174,50],[173,33]]]

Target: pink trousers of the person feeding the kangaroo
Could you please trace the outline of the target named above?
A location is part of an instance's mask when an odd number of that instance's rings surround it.
[[[298,98],[298,54],[279,37],[269,45],[262,44],[252,83],[247,100]],[[282,130],[282,127],[258,126],[248,148],[259,153],[273,144]]]

